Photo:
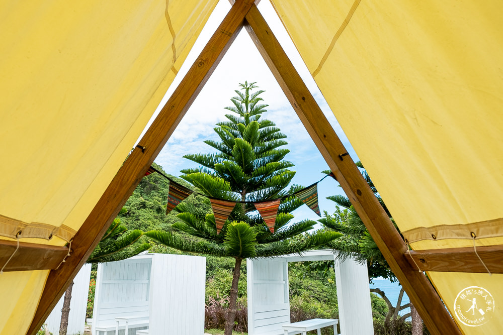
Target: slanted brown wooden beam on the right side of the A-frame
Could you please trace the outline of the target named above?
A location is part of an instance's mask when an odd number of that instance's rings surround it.
[[[403,257],[406,245],[347,150],[333,131],[256,6],[246,15],[246,29],[295,109],[307,132],[343,187],[369,233],[432,334],[460,334],[425,275]]]

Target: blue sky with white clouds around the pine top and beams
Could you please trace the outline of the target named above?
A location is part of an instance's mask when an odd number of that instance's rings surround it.
[[[307,87],[317,100],[326,118],[348,149],[351,157],[358,160],[356,153],[344,135],[321,92],[318,90],[269,1],[261,1],[258,7],[289,58],[297,68],[297,71],[304,79]],[[178,83],[183,78],[190,65],[192,65],[195,58],[199,55],[211,34],[215,31],[216,27],[218,27],[218,24],[229,9],[230,5],[227,0],[221,0],[219,2],[189,54],[184,66],[179,71],[177,78],[160,103],[160,107],[165,103],[167,98],[171,96],[172,92],[176,86],[178,86]],[[218,139],[213,128],[217,122],[226,120],[224,115],[230,112],[224,109],[224,107],[231,105],[230,98],[235,96],[234,90],[238,89],[238,83],[244,82],[245,80],[256,81],[257,85],[265,90],[262,97],[265,100],[264,102],[269,104],[269,107],[267,108],[268,113],[264,114],[263,117],[275,122],[281,131],[287,135],[287,147],[290,149],[290,153],[285,159],[292,161],[295,167],[291,169],[297,171],[293,183],[307,186],[321,179],[324,175],[320,173],[320,171],[328,169],[328,165],[321,157],[321,154],[307,134],[307,131],[295,114],[295,111],[290,106],[290,103],[276,82],[276,79],[269,71],[262,56],[259,54],[244,29],[229,48],[218,67],[187,111],[187,114],[176,131],[155,159],[155,162],[161,165],[167,173],[179,176],[181,174],[181,169],[196,166],[191,161],[182,158],[182,156],[190,153],[214,152],[215,150],[203,143],[203,141]],[[158,114],[160,107],[157,108],[154,117]],[[339,187],[336,181],[331,178],[326,178],[318,184],[318,194],[321,212],[323,212],[323,210],[333,212],[335,208],[334,203],[330,200],[326,200],[325,197],[332,194],[343,193],[342,188]],[[304,218],[315,220],[318,218],[318,216],[307,206],[301,206],[296,209],[294,214],[296,220]]]

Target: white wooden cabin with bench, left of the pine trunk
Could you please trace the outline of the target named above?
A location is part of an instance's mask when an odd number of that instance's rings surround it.
[[[98,265],[93,335],[204,332],[206,258],[140,254]]]

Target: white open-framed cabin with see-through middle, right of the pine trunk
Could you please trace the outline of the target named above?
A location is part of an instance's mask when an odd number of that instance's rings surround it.
[[[331,250],[313,250],[246,260],[248,335],[285,334],[281,325],[290,323],[288,262],[305,261],[334,261],[341,334],[373,334],[367,266],[352,259],[340,262]]]

